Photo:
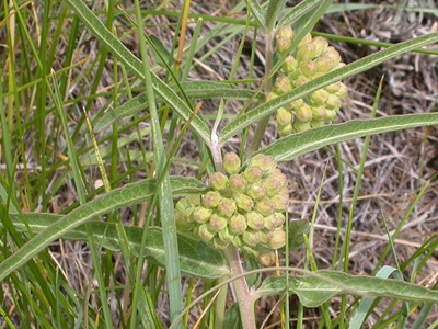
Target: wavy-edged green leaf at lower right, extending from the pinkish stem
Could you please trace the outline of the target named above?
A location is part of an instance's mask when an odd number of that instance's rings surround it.
[[[289,284],[289,291],[297,294],[306,307],[318,307],[333,296],[342,294],[438,304],[437,291],[392,279],[316,271],[314,276],[290,276]],[[285,292],[284,276],[270,276],[257,290],[261,296],[279,295]]]

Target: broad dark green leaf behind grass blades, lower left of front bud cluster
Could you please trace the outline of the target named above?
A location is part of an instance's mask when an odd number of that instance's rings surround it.
[[[22,216],[14,214],[9,215],[9,217],[18,231],[27,231],[26,225],[23,223],[24,218],[34,234],[42,232],[62,218],[61,215],[53,214],[23,214]],[[120,251],[120,241],[114,224],[102,222],[91,222],[90,224],[95,240],[100,246],[113,251]],[[137,257],[143,228],[125,227],[125,230],[132,256]],[[65,240],[88,241],[87,231],[82,225],[65,234],[61,238]],[[228,272],[222,253],[201,241],[178,236],[178,248],[181,270],[188,276],[214,280]],[[157,261],[160,265],[164,264],[164,247],[160,227],[148,228],[146,257]]]

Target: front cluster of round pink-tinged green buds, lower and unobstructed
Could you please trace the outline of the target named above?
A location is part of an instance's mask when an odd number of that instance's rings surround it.
[[[227,154],[208,179],[212,191],[176,203],[178,230],[217,249],[230,243],[272,265],[276,249],[286,243],[285,215],[289,203],[286,175],[272,157],[256,155],[241,170],[239,156]]]

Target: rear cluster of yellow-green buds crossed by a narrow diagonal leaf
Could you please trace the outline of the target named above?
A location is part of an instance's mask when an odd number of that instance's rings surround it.
[[[281,27],[276,37],[276,50],[286,54],[293,42],[293,31]],[[283,75],[274,83],[266,100],[281,94],[316,79],[334,69],[345,66],[339,53],[328,46],[325,38],[307,34],[283,64]],[[277,131],[280,136],[292,132],[303,132],[332,122],[341,109],[341,99],[347,94],[347,87],[341,81],[316,90],[277,111]],[[293,120],[295,114],[295,120]]]

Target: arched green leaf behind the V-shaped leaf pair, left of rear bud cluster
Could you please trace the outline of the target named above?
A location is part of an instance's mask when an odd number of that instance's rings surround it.
[[[181,82],[185,94],[188,98],[194,99],[233,99],[233,100],[247,100],[251,98],[253,92],[251,90],[239,89],[223,82],[210,82],[210,81],[191,81]],[[172,86],[171,89],[181,94],[176,84]],[[159,97],[157,102],[161,102],[162,99]],[[263,101],[263,97],[257,101]],[[95,132],[102,132],[113,124],[114,121],[120,120],[127,115],[132,115],[141,110],[148,107],[148,98],[146,93],[141,93],[136,98],[127,101],[125,104],[110,109],[97,122],[94,129]]]

